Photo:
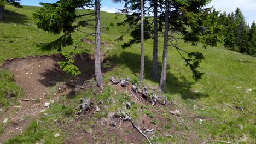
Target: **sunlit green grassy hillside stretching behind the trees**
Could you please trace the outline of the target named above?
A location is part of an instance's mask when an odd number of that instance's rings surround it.
[[[38,7],[22,9],[7,7],[4,20],[0,21],[0,63],[9,58],[58,53],[56,50],[40,51],[38,49],[38,44],[53,41],[60,35],[46,33],[33,24],[32,13],[36,9]],[[78,10],[78,13],[88,13],[88,11]],[[115,19],[116,16],[103,11],[101,13],[102,41],[108,43],[108,46],[102,45],[102,50],[109,62],[103,67],[114,67],[111,71],[104,73],[103,80],[108,81],[112,75],[131,77],[132,80],[136,80],[139,76],[139,44],[121,49],[120,44],[129,40],[129,35],[124,37],[124,41],[115,41],[127,28],[117,27],[116,23],[124,20],[124,15],[117,16],[118,19]],[[109,26],[110,22],[114,23],[114,27]],[[93,27],[80,30],[94,32]],[[83,35],[82,32],[75,32],[74,43],[77,43]],[[158,53],[160,64],[162,42],[163,39],[160,37]],[[187,116],[183,118],[185,123],[190,123],[189,129],[196,130],[199,139],[205,141],[255,143],[256,58],[229,51],[222,45],[203,49],[201,44],[193,47],[183,41],[178,42],[178,46],[184,50],[201,52],[205,56],[200,67],[200,71],[205,74],[196,82],[191,78],[191,71],[185,67],[179,53],[172,48],[168,50],[165,93],[171,95],[169,100],[173,101],[174,107],[185,111]],[[63,51],[72,49],[74,49],[73,46],[68,46]],[[93,50],[94,46],[88,43],[83,43],[78,49],[79,52],[86,53],[92,53]],[[147,40],[144,82],[147,85],[158,86],[158,82],[150,79],[152,53],[153,41]],[[160,69],[159,67],[159,74]],[[190,116],[196,116],[196,121],[191,121]],[[190,133],[189,130],[187,133]],[[174,143],[179,143],[179,140],[184,140],[186,143],[189,138],[177,137],[176,139]],[[165,143],[165,138],[155,138],[155,142]]]

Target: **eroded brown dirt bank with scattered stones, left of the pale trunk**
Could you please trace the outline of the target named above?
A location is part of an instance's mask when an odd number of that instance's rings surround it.
[[[0,142],[22,133],[31,119],[46,109],[45,102],[56,100],[72,90],[72,87],[66,86],[63,91],[53,94],[50,93],[50,87],[60,82],[77,85],[94,76],[94,59],[91,56],[77,55],[74,59],[74,65],[82,72],[76,77],[68,76],[60,69],[57,62],[65,60],[60,55],[15,58],[3,63],[2,67],[14,73],[15,82],[24,89],[26,100],[21,99],[19,106],[11,106],[1,115],[1,121],[5,118],[9,121],[5,124],[4,133],[0,135]],[[60,90],[62,86],[59,87]],[[49,100],[50,94],[54,97]]]

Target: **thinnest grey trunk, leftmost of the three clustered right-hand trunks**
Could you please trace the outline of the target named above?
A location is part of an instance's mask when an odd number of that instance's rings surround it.
[[[143,12],[144,12],[144,4],[143,0],[141,0],[141,69],[139,71],[139,81],[143,82],[144,76],[144,23],[143,23]]]

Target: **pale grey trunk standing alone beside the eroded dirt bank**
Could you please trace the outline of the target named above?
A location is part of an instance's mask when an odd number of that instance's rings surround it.
[[[101,76],[101,22],[100,22],[100,0],[96,4],[96,26],[95,26],[95,85],[103,89]]]

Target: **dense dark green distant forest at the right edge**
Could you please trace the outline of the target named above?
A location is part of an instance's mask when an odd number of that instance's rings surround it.
[[[220,13],[219,25],[223,26],[222,36],[227,49],[256,56],[256,24],[246,23],[242,11],[237,8],[235,13]]]

